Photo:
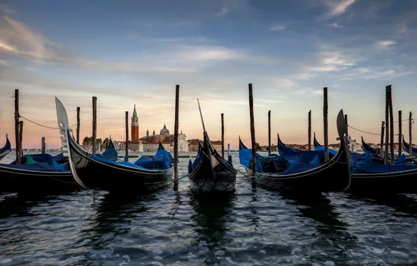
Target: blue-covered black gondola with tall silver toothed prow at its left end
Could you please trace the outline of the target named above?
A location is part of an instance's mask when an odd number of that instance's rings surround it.
[[[149,193],[164,186],[171,180],[174,167],[171,163],[161,165],[140,165],[130,162],[113,162],[84,151],[70,137],[69,123],[62,102],[55,97],[59,132],[62,135],[62,149],[69,158],[69,166],[73,178],[83,188],[106,190],[110,193]],[[162,156],[162,162],[167,162],[169,155],[160,145],[157,155]],[[164,158],[167,160],[164,161]],[[139,161],[139,160],[138,160]],[[167,167],[169,166],[169,167]]]

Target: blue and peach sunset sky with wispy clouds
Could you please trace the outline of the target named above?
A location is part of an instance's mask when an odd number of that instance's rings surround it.
[[[206,131],[238,147],[250,146],[248,83],[253,84],[255,137],[288,144],[323,143],[323,87],[329,95],[329,141],[337,143],[340,109],[353,139],[379,142],[386,85],[392,85],[394,120],[417,111],[417,1],[1,1],[0,146],[14,146],[15,89],[20,115],[57,127],[55,96],[69,123],[81,109],[80,137],[125,136],[125,111],[139,115],[139,135],[164,123],[174,133],[175,85],[180,88],[179,128]],[[23,148],[45,137],[59,147],[58,130],[24,121]],[[130,120],[129,120],[130,123]],[[408,134],[408,123],[403,132]],[[416,127],[413,127],[417,139]],[[397,133],[397,124],[395,124]],[[407,138],[408,139],[408,138]]]

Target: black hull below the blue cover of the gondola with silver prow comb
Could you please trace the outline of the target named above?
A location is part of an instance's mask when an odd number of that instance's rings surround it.
[[[111,193],[150,193],[169,184],[173,168],[164,171],[142,170],[122,165],[108,164],[90,158],[69,137],[71,164],[86,188],[107,190]]]

